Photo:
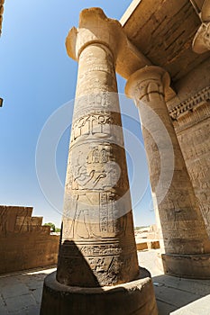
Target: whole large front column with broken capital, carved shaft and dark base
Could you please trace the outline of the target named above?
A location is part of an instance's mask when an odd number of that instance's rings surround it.
[[[122,37],[120,23],[97,8],[84,10],[78,30],[68,33],[78,83],[58,269],[56,279],[53,274],[45,280],[44,315],[157,313],[150,275],[138,266],[134,239],[115,77]]]

